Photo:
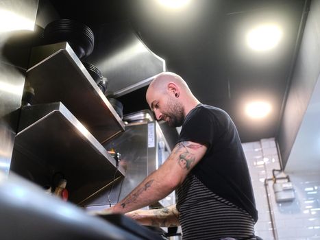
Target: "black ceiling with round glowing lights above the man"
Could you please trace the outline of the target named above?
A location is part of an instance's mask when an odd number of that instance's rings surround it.
[[[61,18],[93,29],[103,23],[130,21],[145,45],[166,60],[168,71],[184,77],[202,103],[230,114],[242,142],[277,135],[305,0],[191,0],[175,12],[156,0],[51,3]],[[245,33],[266,21],[282,27],[282,41],[272,51],[255,53],[243,43]],[[144,93],[141,88],[122,97],[124,111],[147,108]],[[251,99],[270,101],[271,115],[260,121],[245,117],[243,106]]]

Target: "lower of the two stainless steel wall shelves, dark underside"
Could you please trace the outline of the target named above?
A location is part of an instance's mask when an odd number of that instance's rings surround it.
[[[63,173],[69,200],[75,204],[110,184],[114,174],[115,178],[125,175],[123,167],[117,169],[116,160],[61,102],[21,109],[12,171],[40,185],[47,184],[53,173]]]

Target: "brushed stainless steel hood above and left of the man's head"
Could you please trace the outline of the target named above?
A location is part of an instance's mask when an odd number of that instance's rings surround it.
[[[166,70],[165,61],[145,46],[129,23],[100,25],[94,33],[95,49],[84,61],[108,78],[108,96],[120,97],[147,86]]]

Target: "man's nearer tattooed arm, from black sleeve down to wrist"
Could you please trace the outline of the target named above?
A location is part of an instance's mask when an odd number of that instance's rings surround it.
[[[177,143],[158,170],[153,171],[127,197],[106,212],[128,213],[162,200],[182,184],[191,169],[204,156],[206,149],[206,145],[200,143]]]

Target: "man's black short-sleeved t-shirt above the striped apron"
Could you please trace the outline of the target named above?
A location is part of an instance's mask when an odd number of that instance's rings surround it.
[[[257,221],[247,161],[229,115],[219,108],[199,104],[184,119],[178,139],[181,141],[207,145],[206,154],[190,173],[213,193],[247,211]]]

